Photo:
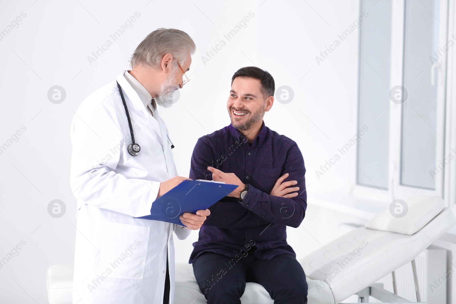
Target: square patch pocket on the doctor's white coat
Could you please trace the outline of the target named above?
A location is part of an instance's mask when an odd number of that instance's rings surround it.
[[[142,280],[150,227],[106,222],[102,225],[98,274]]]

